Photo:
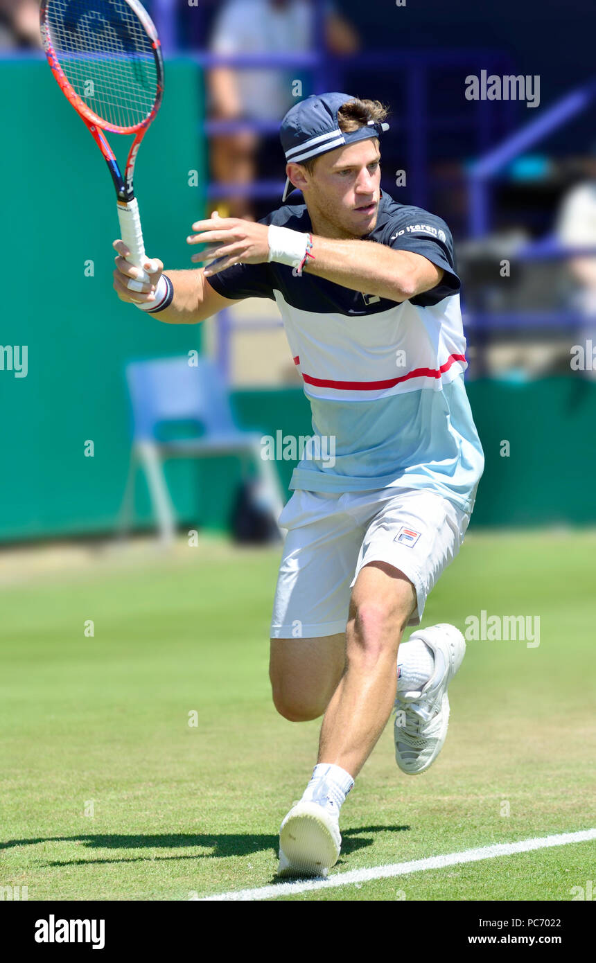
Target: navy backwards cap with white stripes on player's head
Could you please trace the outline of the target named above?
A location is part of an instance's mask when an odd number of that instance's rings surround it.
[[[281,121],[279,137],[286,155],[286,161],[301,164],[310,157],[325,154],[328,150],[335,150],[346,143],[366,141],[371,137],[379,137],[389,130],[388,123],[370,120],[366,127],[346,133],[340,130],[338,113],[344,104],[355,100],[347,93],[322,93],[319,96],[306,97],[288,111]],[[292,188],[288,177],[282,201],[286,199]]]

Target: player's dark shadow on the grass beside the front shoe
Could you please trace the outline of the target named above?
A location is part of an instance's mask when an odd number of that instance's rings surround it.
[[[372,846],[376,833],[397,833],[409,829],[409,826],[359,826],[342,831],[342,856],[349,856],[351,852]],[[166,859],[221,859],[230,856],[251,856],[266,849],[272,849],[277,856],[278,837],[264,833],[181,833],[177,835],[88,835],[78,836],[45,836],[34,839],[9,840],[0,843],[0,849],[13,846],[37,846],[46,843],[74,843],[82,844],[88,849],[209,849],[209,852],[194,852],[188,855],[139,855],[122,858],[100,859],[66,859],[48,862],[48,866],[85,866],[101,863],[135,863],[143,860]]]

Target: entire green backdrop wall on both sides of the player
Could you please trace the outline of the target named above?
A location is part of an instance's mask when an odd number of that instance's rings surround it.
[[[0,346],[28,348],[27,377],[14,377],[0,351],[0,541],[111,532],[130,453],[125,364],[199,348],[200,325],[163,325],[117,300],[111,180],[45,63],[0,63],[0,102]],[[202,103],[194,65],[168,63],[136,184],[147,251],[170,267],[190,265],[185,238],[204,212],[204,195],[189,184],[193,170],[205,182]],[[596,522],[596,383],[578,373],[471,382],[468,392],[486,455],[473,524]],[[239,391],[233,403],[246,429],[310,431],[300,389]],[[278,468],[287,486],[293,464]],[[181,522],[227,526],[240,477],[234,458],[171,462],[167,477]],[[136,524],[150,522],[140,477]]]

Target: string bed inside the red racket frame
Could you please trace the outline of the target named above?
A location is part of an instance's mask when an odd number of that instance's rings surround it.
[[[47,26],[66,79],[88,107],[116,127],[149,117],[158,74],[152,41],[123,0],[51,0]]]

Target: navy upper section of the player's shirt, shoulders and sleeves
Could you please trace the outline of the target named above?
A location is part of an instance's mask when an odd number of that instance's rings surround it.
[[[262,224],[277,224],[291,230],[312,231],[305,204],[285,204],[272,211]],[[393,197],[382,194],[375,230],[363,241],[376,241],[396,250],[411,250],[422,254],[445,272],[440,284],[416,298],[412,304],[429,307],[459,291],[455,273],[453,239],[445,221],[428,214],[420,207],[398,204]],[[279,291],[286,303],[305,311],[320,314],[376,314],[391,308],[395,301],[374,299],[366,292],[350,291],[324,277],[305,272],[295,277],[292,268],[284,264],[235,264],[209,278],[218,294],[229,299],[270,298]]]

